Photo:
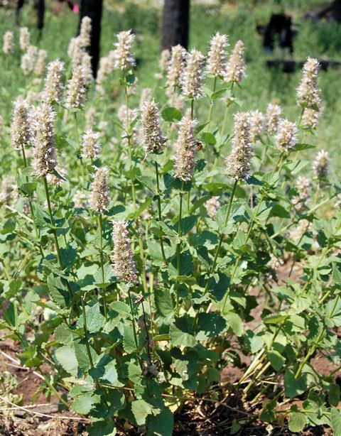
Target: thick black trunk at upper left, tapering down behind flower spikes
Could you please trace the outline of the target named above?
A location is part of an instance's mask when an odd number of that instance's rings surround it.
[[[99,40],[101,36],[103,0],[82,0],[80,3],[80,22],[84,16],[88,16],[92,21],[92,32],[90,36],[90,49],[92,72],[94,77],[97,75],[99,62]]]

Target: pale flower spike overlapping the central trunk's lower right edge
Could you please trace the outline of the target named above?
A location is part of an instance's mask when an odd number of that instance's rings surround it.
[[[187,65],[181,76],[183,95],[190,99],[202,96],[202,79],[204,75],[205,56],[199,50],[190,50]]]

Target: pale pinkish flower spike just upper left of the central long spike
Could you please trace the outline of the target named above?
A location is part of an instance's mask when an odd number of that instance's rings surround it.
[[[146,153],[161,153],[166,137],[161,131],[158,105],[154,100],[145,102],[141,107],[142,142]]]

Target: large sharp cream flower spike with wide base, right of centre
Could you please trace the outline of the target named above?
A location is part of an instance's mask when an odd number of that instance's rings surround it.
[[[234,180],[247,180],[251,168],[251,158],[249,113],[238,112],[234,115],[232,151],[226,159],[227,174]]]

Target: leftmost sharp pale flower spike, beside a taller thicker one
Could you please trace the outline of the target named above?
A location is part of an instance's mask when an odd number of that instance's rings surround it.
[[[31,126],[28,114],[28,104],[23,99],[17,99],[13,104],[11,143],[16,150],[22,150],[31,145]]]

